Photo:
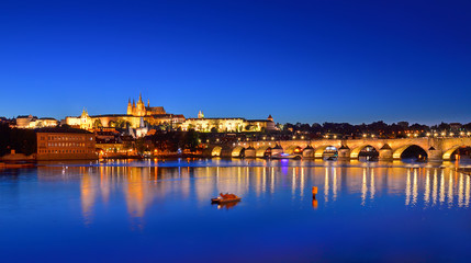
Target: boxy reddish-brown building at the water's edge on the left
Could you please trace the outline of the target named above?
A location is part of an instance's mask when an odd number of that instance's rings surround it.
[[[76,128],[41,128],[36,130],[37,160],[92,160],[94,134]]]

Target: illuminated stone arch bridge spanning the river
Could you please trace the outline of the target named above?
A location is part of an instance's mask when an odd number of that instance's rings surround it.
[[[303,158],[323,158],[327,147],[338,149],[341,159],[358,159],[366,147],[373,147],[381,160],[401,159],[410,147],[420,147],[428,160],[451,160],[460,147],[471,147],[471,138],[407,138],[407,139],[351,139],[351,140],[262,140],[210,145],[205,150],[211,157],[261,158],[285,152],[299,153]]]

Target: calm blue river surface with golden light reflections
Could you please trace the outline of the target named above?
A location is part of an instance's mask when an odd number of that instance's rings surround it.
[[[0,171],[0,258],[469,262],[470,190],[453,163],[44,163]]]

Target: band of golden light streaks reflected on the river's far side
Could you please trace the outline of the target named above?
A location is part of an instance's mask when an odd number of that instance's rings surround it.
[[[263,165],[221,167],[38,167],[40,181],[79,181],[83,224],[93,224],[97,207],[122,199],[133,226],[143,228],[150,207],[172,201],[180,205],[206,207],[217,193],[236,193],[247,202],[287,202],[314,208],[346,201],[361,206],[381,205],[377,198],[390,197],[406,207],[422,209],[469,207],[470,176],[449,168],[305,167],[282,162]],[[317,198],[306,198],[311,187]],[[306,192],[307,191],[307,192]],[[287,194],[289,196],[287,196]],[[324,195],[324,196],[322,196]],[[288,197],[288,198],[287,198]],[[404,202],[404,203],[403,203]],[[285,203],[281,203],[285,204]],[[236,204],[220,209],[239,209]]]

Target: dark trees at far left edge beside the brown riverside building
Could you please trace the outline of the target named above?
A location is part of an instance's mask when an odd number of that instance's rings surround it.
[[[36,152],[36,133],[33,129],[10,128],[8,124],[0,124],[0,156],[11,150],[26,156]]]

